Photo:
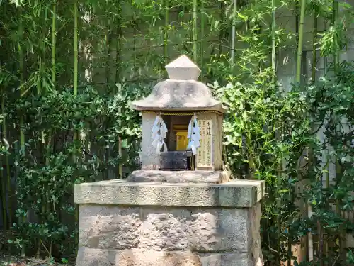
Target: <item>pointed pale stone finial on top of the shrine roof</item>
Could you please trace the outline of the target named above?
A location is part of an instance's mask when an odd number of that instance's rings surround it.
[[[166,65],[165,68],[170,79],[197,80],[201,72],[200,68],[186,55],[181,55],[169,65]]]

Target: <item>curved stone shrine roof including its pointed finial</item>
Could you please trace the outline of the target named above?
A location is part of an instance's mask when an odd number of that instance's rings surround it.
[[[182,55],[166,65],[169,79],[159,82],[147,98],[133,101],[132,108],[140,111],[197,111],[223,112],[221,102],[212,97],[210,89],[198,82],[200,69]]]

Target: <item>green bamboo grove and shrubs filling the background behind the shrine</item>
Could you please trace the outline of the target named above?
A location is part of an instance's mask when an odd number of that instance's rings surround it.
[[[139,167],[130,101],[184,53],[227,107],[226,167],[266,182],[265,265],[353,264],[352,17],[337,0],[0,0],[4,252],[74,255],[73,185]]]

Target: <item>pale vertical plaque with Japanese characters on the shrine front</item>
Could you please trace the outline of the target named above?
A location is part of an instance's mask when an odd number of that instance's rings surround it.
[[[197,154],[197,168],[212,167],[212,121],[199,120],[200,147]]]

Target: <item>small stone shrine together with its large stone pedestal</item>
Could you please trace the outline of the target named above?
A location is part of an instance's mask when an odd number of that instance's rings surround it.
[[[76,184],[76,266],[261,266],[264,182],[230,180],[222,104],[182,55],[132,108],[142,112],[142,170]]]

